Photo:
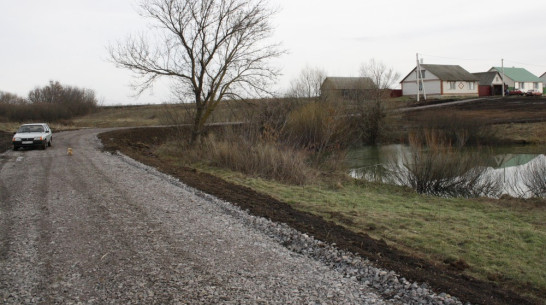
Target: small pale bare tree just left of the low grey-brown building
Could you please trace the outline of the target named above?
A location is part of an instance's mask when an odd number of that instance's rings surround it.
[[[292,80],[287,96],[292,98],[317,98],[320,87],[326,79],[326,71],[306,66],[299,76]]]

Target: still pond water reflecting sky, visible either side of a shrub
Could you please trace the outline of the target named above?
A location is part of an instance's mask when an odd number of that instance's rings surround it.
[[[470,150],[483,155],[482,166],[487,168],[488,175],[501,180],[502,193],[516,197],[526,197],[522,194],[528,193],[520,181],[521,176],[537,166],[546,167],[546,145],[511,145]],[[393,164],[402,164],[410,156],[410,147],[403,144],[365,146],[349,150],[345,164],[353,178],[384,181]]]

